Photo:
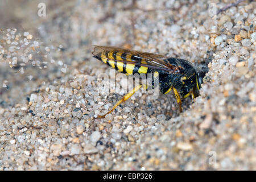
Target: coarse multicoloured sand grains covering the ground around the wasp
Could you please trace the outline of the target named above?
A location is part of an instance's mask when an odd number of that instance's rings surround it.
[[[217,15],[229,1],[48,0],[46,16],[39,3],[0,3],[0,170],[256,169],[255,1]],[[124,93],[104,90],[98,76],[118,72],[92,45],[209,72],[183,113],[172,91],[140,93],[97,119]]]

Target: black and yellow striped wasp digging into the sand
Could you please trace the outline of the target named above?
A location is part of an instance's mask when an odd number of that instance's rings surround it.
[[[171,90],[174,91],[180,113],[182,112],[181,106],[184,98],[191,96],[193,101],[194,98],[199,96],[203,77],[208,72],[208,67],[194,67],[191,62],[184,59],[114,46],[94,46],[92,54],[96,59],[126,75],[152,73],[155,78],[158,78],[161,93],[167,94]],[[106,114],[111,113],[141,87],[142,84],[135,86]],[[98,115],[98,118],[104,118],[105,115]]]

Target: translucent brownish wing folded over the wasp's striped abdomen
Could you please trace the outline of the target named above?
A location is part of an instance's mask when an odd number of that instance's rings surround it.
[[[119,55],[119,59],[117,57],[116,59],[113,59],[114,57],[109,57],[108,55],[110,51],[113,51],[115,53],[125,53],[125,57]],[[164,59],[167,59],[166,56],[154,53],[134,51],[131,49],[119,48],[114,46],[94,46],[92,54],[98,57],[102,57],[102,55],[104,55],[104,58],[108,58],[110,60],[119,61],[122,63],[141,65],[143,67],[148,67],[156,70],[163,70],[170,73],[182,72],[180,67],[176,67],[175,65],[172,65],[167,61],[164,61]],[[115,54],[115,56],[117,56],[117,54]]]

